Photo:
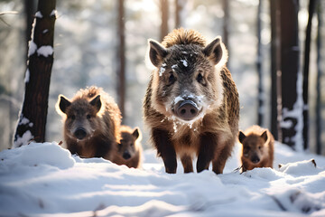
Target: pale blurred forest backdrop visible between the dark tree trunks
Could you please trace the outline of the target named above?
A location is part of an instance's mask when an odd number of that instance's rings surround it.
[[[261,125],[271,128],[271,17],[270,1],[232,0],[228,1],[178,1],[181,5],[179,24],[192,28],[209,40],[217,35],[227,39],[229,52],[228,68],[237,84],[240,97],[239,127],[245,129],[258,123],[258,113],[263,114]],[[226,1],[227,2],[227,1]],[[325,3],[320,9],[325,11]],[[169,3],[167,16],[168,31],[177,27],[176,6]],[[308,22],[310,1],[299,1],[299,50],[300,59],[304,57],[304,42]],[[37,3],[34,2],[35,8]],[[123,122],[131,127],[141,127],[144,148],[149,147],[148,131],[143,124],[142,102],[151,70],[144,62],[147,39],[162,40],[162,1],[125,0],[125,112]],[[258,6],[261,4],[261,14]],[[46,141],[61,141],[62,122],[55,111],[59,94],[72,98],[79,89],[97,85],[106,90],[116,101],[120,90],[117,87],[120,68],[118,39],[118,1],[57,1],[58,12],[55,22],[54,62],[51,72],[49,108],[46,127]],[[17,12],[0,16],[0,150],[11,146],[19,110],[22,107],[24,92],[24,73],[26,71],[27,42],[26,15],[21,1],[0,1],[0,12]],[[33,12],[33,14],[36,10]],[[226,20],[225,18],[228,17]],[[258,18],[259,17],[259,18]],[[321,14],[324,17],[324,13]],[[261,29],[258,29],[260,21]],[[225,25],[226,24],[226,25]],[[227,30],[227,31],[226,31]],[[309,150],[316,152],[316,81],[324,83],[324,76],[317,77],[317,48],[321,56],[324,44],[316,45],[318,31],[317,17],[311,25],[311,63],[309,89]],[[227,35],[225,33],[227,32]],[[258,35],[261,50],[258,53]],[[324,28],[320,32],[325,38]],[[262,80],[258,79],[257,63],[261,63]],[[323,61],[322,61],[323,62]],[[322,70],[324,70],[324,64]],[[302,73],[303,61],[300,61]],[[258,94],[259,82],[263,87]],[[300,87],[299,87],[300,85]],[[302,82],[298,89],[302,89]],[[320,85],[324,87],[324,85]],[[324,88],[322,88],[323,90]],[[320,92],[323,92],[320,90]],[[258,101],[263,99],[263,107]],[[320,98],[321,117],[325,115],[325,95]],[[324,118],[320,118],[324,126]],[[325,131],[320,134],[321,144],[325,144]],[[322,148],[322,154],[325,147]]]

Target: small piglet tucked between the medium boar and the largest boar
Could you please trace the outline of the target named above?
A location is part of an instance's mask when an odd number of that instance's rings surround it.
[[[126,165],[128,167],[139,168],[141,166],[143,148],[141,146],[141,132],[138,127],[121,126],[122,139],[117,145],[113,162],[116,165]],[[125,159],[125,155],[130,157]]]

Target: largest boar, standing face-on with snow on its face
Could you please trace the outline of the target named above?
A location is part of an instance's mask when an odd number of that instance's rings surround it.
[[[149,41],[155,66],[144,99],[144,121],[167,173],[176,173],[176,157],[185,173],[209,168],[223,172],[238,133],[238,93],[226,67],[221,38],[209,44],[200,33],[177,29],[162,44]]]

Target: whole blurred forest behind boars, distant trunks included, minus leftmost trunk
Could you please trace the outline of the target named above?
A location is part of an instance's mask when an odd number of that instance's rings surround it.
[[[30,5],[35,5],[35,1],[25,0],[24,5],[17,0],[0,1],[0,11],[19,12],[2,16],[9,26],[0,21],[1,148],[12,142],[23,101],[27,53],[24,38],[29,31],[25,33],[25,29]],[[124,108],[125,124],[143,129],[143,143],[147,146],[142,121],[142,100],[151,71],[144,64],[147,39],[162,40],[173,28],[183,26],[198,30],[209,40],[223,36],[229,51],[228,68],[239,91],[241,129],[260,124],[270,128],[283,143],[302,151],[303,144],[307,145],[303,143],[306,137],[303,130],[307,126],[308,148],[320,153],[320,145],[316,150],[316,143],[325,144],[325,132],[321,129],[325,99],[320,95],[324,80],[321,39],[325,35],[320,24],[325,4],[316,1],[317,13],[310,25],[309,98],[303,104],[302,65],[305,64],[301,60],[305,53],[309,5],[308,0],[58,2],[46,140],[62,140],[60,116],[54,109],[58,95],[63,93],[71,98],[80,88],[98,85]],[[302,111],[307,104],[309,121],[304,127]]]

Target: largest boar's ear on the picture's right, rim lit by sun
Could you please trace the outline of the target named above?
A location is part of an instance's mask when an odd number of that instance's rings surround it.
[[[223,66],[228,61],[228,52],[221,42],[221,37],[215,38],[210,42],[203,50],[203,53],[212,61],[215,65]]]

